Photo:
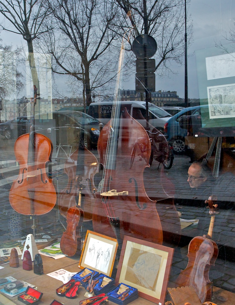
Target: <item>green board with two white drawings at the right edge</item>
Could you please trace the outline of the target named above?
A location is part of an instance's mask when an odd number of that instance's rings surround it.
[[[196,50],[195,55],[201,117],[201,128],[195,131],[195,135],[197,133],[197,136],[202,137],[234,137],[234,49],[227,44],[223,45],[223,48]]]

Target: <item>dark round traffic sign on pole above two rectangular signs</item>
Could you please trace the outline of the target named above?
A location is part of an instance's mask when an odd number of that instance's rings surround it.
[[[150,58],[157,51],[157,42],[152,36],[141,34],[132,42],[132,51],[139,58]]]

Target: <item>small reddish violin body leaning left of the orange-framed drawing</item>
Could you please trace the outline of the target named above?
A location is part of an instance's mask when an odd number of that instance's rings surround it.
[[[77,250],[82,247],[80,228],[83,217],[84,212],[79,206],[71,206],[69,208],[67,213],[67,228],[60,240],[60,249],[67,256],[74,256]],[[76,230],[78,233],[76,233]],[[79,246],[78,241],[80,242]]]

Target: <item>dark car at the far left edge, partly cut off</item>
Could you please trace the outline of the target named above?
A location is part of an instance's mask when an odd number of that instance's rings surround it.
[[[30,117],[16,117],[5,123],[0,123],[0,134],[7,140],[18,138],[29,132]]]

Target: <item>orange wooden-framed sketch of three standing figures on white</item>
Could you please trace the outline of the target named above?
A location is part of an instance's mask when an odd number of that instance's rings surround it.
[[[78,267],[111,276],[117,249],[117,239],[87,230]]]

